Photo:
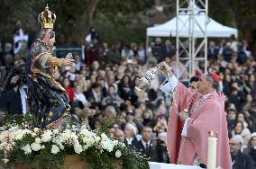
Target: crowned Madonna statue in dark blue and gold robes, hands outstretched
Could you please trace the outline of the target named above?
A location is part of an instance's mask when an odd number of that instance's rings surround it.
[[[36,117],[35,126],[40,128],[57,128],[69,112],[66,90],[54,80],[58,67],[71,66],[74,62],[69,53],[66,58],[56,58],[51,52],[55,42],[53,24],[56,15],[49,11],[48,5],[39,14],[41,31],[32,44],[26,63],[28,79],[28,103]]]

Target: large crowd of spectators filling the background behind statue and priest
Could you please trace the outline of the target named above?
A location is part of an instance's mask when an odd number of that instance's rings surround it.
[[[5,113],[29,112],[23,76],[29,37],[22,30],[16,36],[23,38],[16,38],[14,47],[12,43],[0,46],[0,109],[5,110],[0,120]],[[92,27],[85,46],[86,57],[74,53],[73,66],[59,68],[55,76],[67,91],[72,117],[85,121],[88,129],[97,129],[105,117],[123,116],[109,129],[109,136],[142,150],[151,161],[169,163],[166,138],[171,99],[159,90],[166,76],[159,75],[141,92],[135,86],[143,73],[160,61],[175,65],[175,45],[160,38],[148,49],[143,43],[109,45]],[[221,78],[219,92],[225,96],[233,168],[252,168],[256,163],[256,62],[250,46],[231,37],[219,43],[209,41],[207,53],[207,70]],[[200,70],[204,70],[204,64],[197,66],[199,73],[187,85],[195,92]],[[13,102],[14,98],[18,102]]]

